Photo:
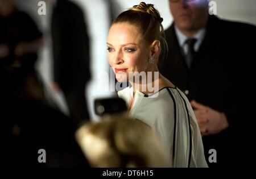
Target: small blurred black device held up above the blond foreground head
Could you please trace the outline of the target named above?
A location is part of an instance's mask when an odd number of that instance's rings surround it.
[[[94,111],[97,115],[117,114],[127,111],[126,102],[118,97],[98,98],[94,101]]]

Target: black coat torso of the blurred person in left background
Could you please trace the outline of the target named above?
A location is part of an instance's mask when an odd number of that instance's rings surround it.
[[[52,22],[54,80],[61,89],[84,88],[90,79],[89,35],[84,13],[71,1],[58,0]]]

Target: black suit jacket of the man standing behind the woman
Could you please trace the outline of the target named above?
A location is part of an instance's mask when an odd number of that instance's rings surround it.
[[[214,110],[224,112],[229,128],[216,135],[203,137],[205,156],[209,149],[216,149],[219,164],[232,160],[234,146],[242,141],[243,118],[242,98],[246,61],[253,57],[253,47],[248,40],[255,40],[255,26],[220,20],[209,16],[206,34],[196,52],[189,70],[175,34],[174,24],[165,32],[168,43],[168,57],[159,66],[160,73],[182,91],[187,90],[188,99],[195,99]],[[241,139],[241,140],[240,140]],[[236,159],[234,159],[236,160]]]

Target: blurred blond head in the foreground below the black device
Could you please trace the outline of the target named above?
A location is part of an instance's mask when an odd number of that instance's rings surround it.
[[[94,167],[168,167],[154,132],[126,116],[111,116],[82,126],[77,141]]]

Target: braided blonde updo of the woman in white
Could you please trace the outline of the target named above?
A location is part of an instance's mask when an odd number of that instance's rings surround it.
[[[161,18],[159,11],[155,9],[154,5],[141,2],[139,5],[135,5],[119,14],[113,24],[123,22],[137,27],[142,38],[149,44],[154,40],[160,41],[160,53],[158,57],[155,57],[157,61],[167,56],[168,47],[162,25],[163,18]]]

